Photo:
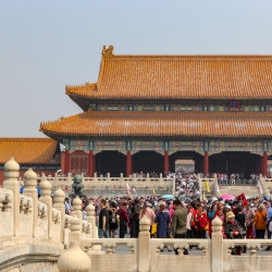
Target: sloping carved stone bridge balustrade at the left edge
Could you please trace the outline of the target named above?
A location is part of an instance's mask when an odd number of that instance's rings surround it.
[[[57,189],[52,202],[51,183],[41,177],[38,198],[37,174],[28,169],[20,194],[18,170],[13,158],[4,164],[5,180],[0,188],[0,271],[21,271],[22,265],[24,271],[44,271],[46,267],[47,271],[57,271],[58,258],[71,243],[67,239],[64,244],[65,193]],[[71,224],[71,230],[75,228]],[[77,228],[78,237],[92,237],[90,222],[79,221]]]

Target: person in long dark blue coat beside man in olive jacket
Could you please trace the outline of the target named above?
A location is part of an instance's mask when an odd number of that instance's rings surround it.
[[[168,230],[169,230],[169,224],[170,224],[170,214],[165,209],[165,203],[161,202],[160,203],[160,210],[156,214],[154,218],[154,223],[158,223],[157,225],[157,238],[166,238],[168,235]],[[170,247],[168,247],[169,251],[172,251]],[[163,249],[161,249],[163,251]]]

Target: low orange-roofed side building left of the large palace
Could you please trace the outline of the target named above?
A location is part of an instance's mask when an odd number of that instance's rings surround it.
[[[60,144],[50,138],[0,138],[0,185],[4,163],[13,157],[20,163],[20,177],[32,168],[37,174],[54,175],[61,166]]]

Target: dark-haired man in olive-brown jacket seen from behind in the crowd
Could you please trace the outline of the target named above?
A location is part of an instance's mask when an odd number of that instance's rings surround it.
[[[182,202],[180,199],[175,199],[173,201],[174,213],[172,215],[172,238],[187,238],[187,214],[188,211],[186,208],[182,207]],[[184,255],[188,255],[188,250],[185,249]],[[175,249],[175,255],[178,255],[177,249]]]

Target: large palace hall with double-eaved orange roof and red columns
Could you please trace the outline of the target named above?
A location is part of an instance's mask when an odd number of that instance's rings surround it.
[[[66,86],[83,112],[40,124],[65,146],[66,174],[174,171],[268,175],[272,55],[121,55],[103,47],[97,83]]]

